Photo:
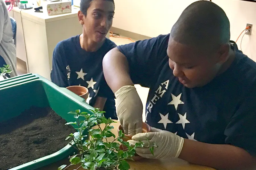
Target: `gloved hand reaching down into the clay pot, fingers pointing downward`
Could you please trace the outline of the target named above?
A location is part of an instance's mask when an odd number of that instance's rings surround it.
[[[124,133],[142,132],[143,105],[134,86],[123,86],[115,92],[116,113]]]

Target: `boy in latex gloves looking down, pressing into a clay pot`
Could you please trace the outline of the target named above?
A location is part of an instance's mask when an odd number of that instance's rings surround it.
[[[256,167],[255,68],[230,42],[225,12],[210,1],[189,5],[170,34],[117,46],[103,59],[125,131],[141,126],[141,100],[127,90],[134,84],[149,88],[146,122],[170,131],[136,134],[130,142],[147,144],[148,137],[158,145],[154,156],[148,148],[138,154],[216,169]]]

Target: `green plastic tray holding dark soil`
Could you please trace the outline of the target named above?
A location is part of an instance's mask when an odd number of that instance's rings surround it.
[[[0,96],[0,122],[18,116],[31,106],[51,107],[67,122],[75,121],[73,115],[67,114],[69,111],[80,109],[91,113],[89,109],[93,109],[82,97],[66,88],[56,86],[37,74],[26,74],[0,81]],[[67,145],[58,152],[10,170],[34,170],[67,158],[74,151],[72,146]]]

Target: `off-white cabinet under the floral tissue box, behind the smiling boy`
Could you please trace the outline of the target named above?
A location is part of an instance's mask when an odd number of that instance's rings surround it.
[[[21,10],[21,18],[28,59],[28,70],[50,79],[52,54],[59,41],[82,33],[77,18],[72,13],[48,16],[31,10]]]

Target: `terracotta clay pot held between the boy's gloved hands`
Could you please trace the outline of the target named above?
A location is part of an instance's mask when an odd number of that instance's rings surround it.
[[[121,125],[119,125],[119,126],[117,127],[117,131],[118,131],[118,132],[119,132],[119,130],[122,130],[122,131],[123,131],[123,128],[122,128]],[[151,131],[151,127],[150,127],[148,124],[146,124],[145,122],[143,122],[143,123],[142,123],[142,133],[147,133],[147,132],[150,132],[150,131]],[[124,133],[124,131],[123,131],[123,133]],[[125,137],[122,138],[122,139],[123,139],[123,141],[126,141],[126,142],[127,142],[128,140],[131,140],[132,137],[133,137],[132,135],[126,135],[126,134],[125,134]],[[120,145],[119,148],[120,148],[121,150],[127,149],[127,147],[124,146],[124,145]],[[133,160],[135,160],[135,161],[142,159],[142,157],[139,156],[138,154],[135,154],[135,156],[133,156],[132,158],[133,158]]]

